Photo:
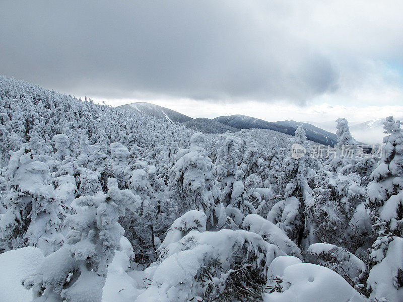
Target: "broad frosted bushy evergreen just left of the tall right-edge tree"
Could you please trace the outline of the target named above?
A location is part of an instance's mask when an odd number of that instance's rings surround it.
[[[364,202],[366,190],[354,173],[321,171],[315,177],[313,199],[305,208],[312,224],[310,244],[324,242],[355,252],[366,244],[368,232],[361,218],[353,219],[357,207]],[[361,208],[359,209],[361,211]]]

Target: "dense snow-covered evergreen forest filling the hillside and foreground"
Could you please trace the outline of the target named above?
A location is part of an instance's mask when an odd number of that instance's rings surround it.
[[[302,126],[208,135],[7,77],[0,97],[0,301],[403,301],[400,121],[343,156],[340,118],[316,157]]]

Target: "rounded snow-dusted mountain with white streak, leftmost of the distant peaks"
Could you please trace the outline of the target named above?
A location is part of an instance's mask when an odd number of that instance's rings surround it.
[[[162,118],[165,121],[171,123],[184,123],[187,121],[192,120],[191,117],[174,111],[172,109],[168,109],[162,106],[158,106],[151,103],[146,102],[138,102],[138,103],[131,103],[126,105],[118,106],[117,108],[123,110],[137,110],[139,112],[143,112],[146,115],[154,116],[156,118]]]

